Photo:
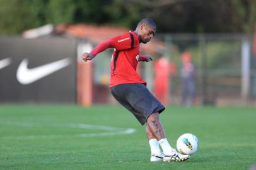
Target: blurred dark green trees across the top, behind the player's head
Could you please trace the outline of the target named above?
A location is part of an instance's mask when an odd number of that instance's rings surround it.
[[[254,0],[1,0],[0,35],[47,23],[95,23],[135,28],[153,18],[161,32],[248,32],[256,23]]]

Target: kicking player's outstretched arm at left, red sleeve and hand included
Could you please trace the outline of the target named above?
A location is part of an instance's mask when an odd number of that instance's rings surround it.
[[[107,50],[107,48],[115,48],[116,50],[126,50],[136,47],[132,33],[124,33],[117,37],[110,38],[99,43],[90,53],[85,52],[81,57],[84,61],[93,59],[97,54]]]

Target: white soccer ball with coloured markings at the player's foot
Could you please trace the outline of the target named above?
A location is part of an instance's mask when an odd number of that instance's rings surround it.
[[[192,133],[185,133],[177,140],[177,150],[180,154],[192,155],[197,151],[199,140]]]

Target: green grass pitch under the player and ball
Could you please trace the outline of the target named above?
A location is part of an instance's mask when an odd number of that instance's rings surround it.
[[[255,108],[169,107],[170,143],[199,138],[187,162],[149,162],[144,127],[121,106],[0,105],[0,169],[248,169],[256,163]],[[135,132],[134,132],[135,131]]]

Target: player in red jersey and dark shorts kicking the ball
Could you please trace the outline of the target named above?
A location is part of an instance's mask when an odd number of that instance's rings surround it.
[[[114,48],[110,71],[111,93],[136,116],[141,125],[146,123],[146,135],[151,148],[150,161],[185,161],[189,156],[176,152],[165,137],[159,118],[165,106],[149,92],[146,82],[136,72],[138,62],[152,60],[150,55],[139,54],[139,44],[148,43],[155,33],[154,21],[144,18],[139,21],[135,31],[105,40],[81,57],[88,61],[107,48]]]

